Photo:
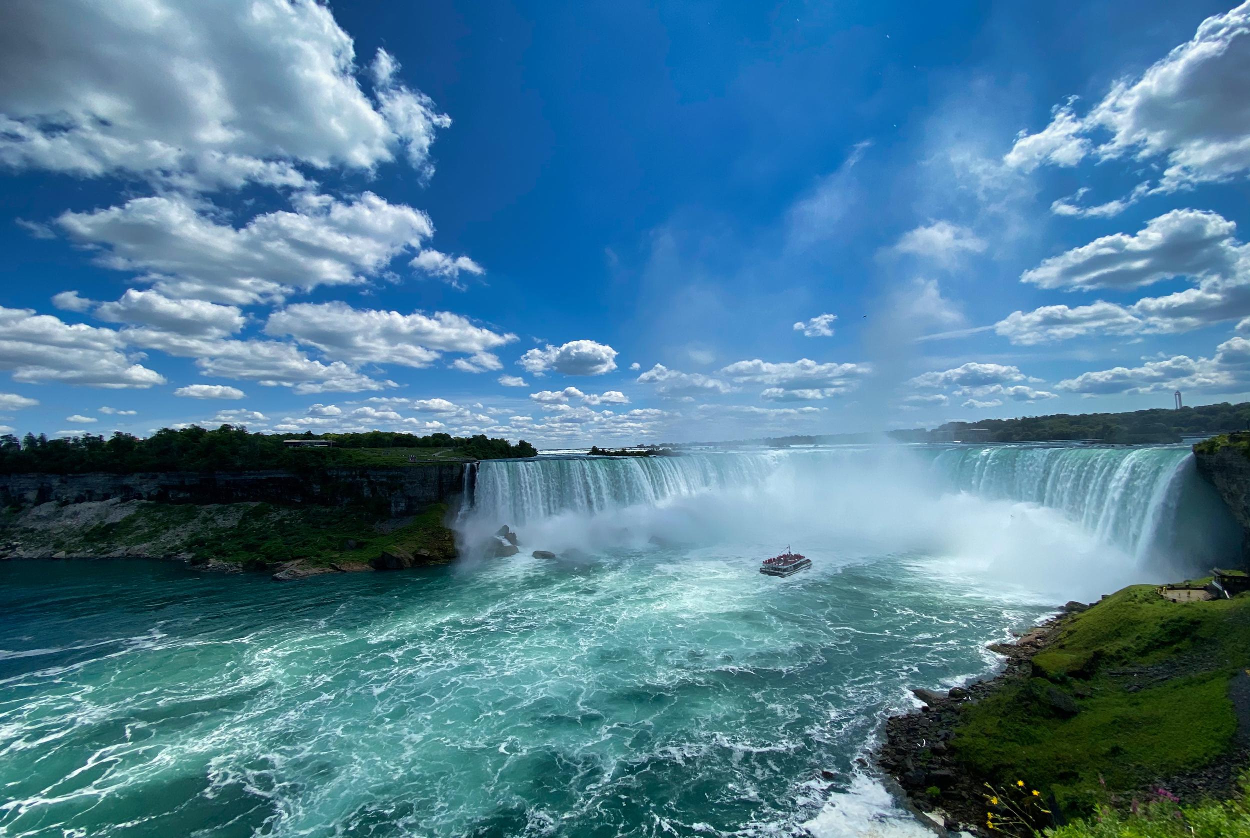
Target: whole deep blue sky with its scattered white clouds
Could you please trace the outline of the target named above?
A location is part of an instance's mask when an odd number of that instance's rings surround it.
[[[1250,4],[9,9],[18,433],[555,447],[1250,392]]]

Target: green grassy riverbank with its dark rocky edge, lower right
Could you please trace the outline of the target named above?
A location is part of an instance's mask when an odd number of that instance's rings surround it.
[[[1239,793],[1250,594],[1176,603],[1130,586],[991,648],[1005,657],[996,677],[918,688],[925,706],[886,722],[878,764],[931,819],[989,834],[994,801],[1018,783],[1060,822],[1159,789],[1181,802]]]

